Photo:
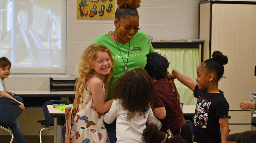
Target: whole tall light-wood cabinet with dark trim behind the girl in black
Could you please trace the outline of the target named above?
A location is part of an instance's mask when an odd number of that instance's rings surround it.
[[[241,111],[239,103],[256,92],[256,2],[206,1],[199,9],[203,60],[214,51],[228,56],[219,89],[230,106],[230,134],[251,130],[251,111]]]

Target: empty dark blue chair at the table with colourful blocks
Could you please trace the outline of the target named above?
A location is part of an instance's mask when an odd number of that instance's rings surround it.
[[[44,127],[39,132],[40,143],[42,143],[42,135],[41,135],[42,131],[43,130],[53,130],[54,129],[54,127],[51,127],[51,126],[54,126],[54,118],[49,116],[48,109],[47,109],[47,105],[52,105],[52,104],[68,105],[68,102],[64,101],[64,100],[50,100],[50,101],[46,101],[43,104],[43,111],[44,111],[45,120],[38,120],[37,121],[38,123],[41,123],[41,126]]]

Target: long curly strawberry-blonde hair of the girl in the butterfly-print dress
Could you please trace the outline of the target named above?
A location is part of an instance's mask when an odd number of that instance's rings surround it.
[[[93,69],[91,69],[91,67],[93,62],[97,59],[97,55],[99,51],[108,52],[109,58],[112,62],[111,70],[109,74],[106,75],[106,79],[104,81],[106,85],[106,98],[108,96],[108,83],[112,77],[112,73],[115,71],[113,57],[111,56],[110,49],[108,49],[106,46],[91,44],[83,51],[83,53],[80,56],[80,60],[78,62],[78,69],[77,69],[78,78],[76,80],[76,89],[77,89],[76,110],[78,110],[79,104],[83,102],[83,92],[85,90],[87,81],[93,75]]]

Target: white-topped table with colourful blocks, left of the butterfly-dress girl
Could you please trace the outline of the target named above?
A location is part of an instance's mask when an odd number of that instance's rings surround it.
[[[49,115],[54,117],[54,143],[63,143],[62,128],[65,124],[65,110],[53,108],[52,105],[47,105]]]

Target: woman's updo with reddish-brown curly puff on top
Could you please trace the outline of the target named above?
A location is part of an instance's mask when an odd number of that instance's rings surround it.
[[[140,7],[140,0],[116,0],[118,5],[115,12],[115,19],[120,21],[120,18],[128,19],[130,16],[138,16],[137,8]]]

